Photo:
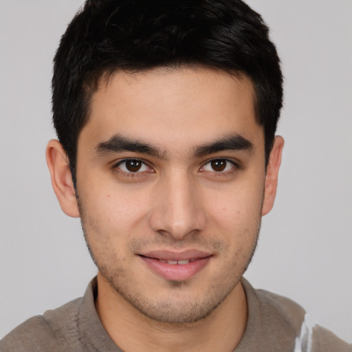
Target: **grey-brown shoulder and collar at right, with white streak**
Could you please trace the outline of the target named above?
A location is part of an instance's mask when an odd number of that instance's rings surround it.
[[[352,352],[350,344],[316,325],[298,303],[263,289],[254,289],[245,280],[242,285],[248,298],[249,331],[245,334],[250,340],[261,341],[258,346],[261,351]]]

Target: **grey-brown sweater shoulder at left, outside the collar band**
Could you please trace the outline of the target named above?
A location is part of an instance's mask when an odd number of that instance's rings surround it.
[[[34,316],[0,341],[1,352],[58,352],[78,340],[78,310],[82,298]]]

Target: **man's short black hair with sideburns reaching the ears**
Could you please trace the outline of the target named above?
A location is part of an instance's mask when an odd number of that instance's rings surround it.
[[[105,75],[197,65],[245,74],[268,162],[283,101],[276,47],[261,16],[241,0],[87,0],[54,58],[53,121],[76,184],[78,135]]]

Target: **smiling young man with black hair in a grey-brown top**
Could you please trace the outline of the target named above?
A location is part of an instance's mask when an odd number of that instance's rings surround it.
[[[276,194],[282,76],[241,1],[87,1],[47,146],[98,276],[1,351],[351,351],[242,276]]]

